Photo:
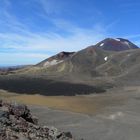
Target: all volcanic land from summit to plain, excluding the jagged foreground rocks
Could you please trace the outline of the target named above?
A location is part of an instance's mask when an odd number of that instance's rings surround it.
[[[1,98],[75,139],[139,140],[140,49],[122,38],[0,75]]]

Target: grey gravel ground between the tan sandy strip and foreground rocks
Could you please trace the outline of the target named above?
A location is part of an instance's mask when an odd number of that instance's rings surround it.
[[[78,139],[140,140],[139,87],[127,88],[123,93],[118,91],[116,94],[126,97],[124,104],[108,106],[102,112],[90,116],[41,106],[30,107],[41,124],[70,131]],[[110,96],[115,94],[111,93]]]

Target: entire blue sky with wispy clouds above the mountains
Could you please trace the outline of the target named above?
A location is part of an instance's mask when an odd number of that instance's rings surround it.
[[[35,64],[107,37],[140,45],[139,0],[0,0],[0,65]]]

